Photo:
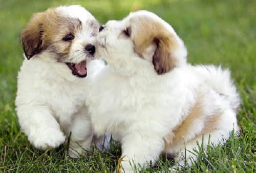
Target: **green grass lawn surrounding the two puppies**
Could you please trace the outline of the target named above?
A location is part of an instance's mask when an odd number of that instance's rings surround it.
[[[40,151],[19,131],[15,113],[16,76],[22,64],[18,35],[32,13],[48,7],[81,4],[101,22],[121,19],[130,11],[155,12],[184,40],[188,61],[214,63],[230,68],[241,94],[238,114],[241,135],[231,136],[223,146],[199,152],[198,162],[182,172],[256,172],[256,1],[25,1],[0,0],[0,172],[111,172],[120,147],[108,153],[97,150],[80,159],[67,156],[67,146]],[[161,159],[156,167],[142,172],[168,172],[174,163]]]

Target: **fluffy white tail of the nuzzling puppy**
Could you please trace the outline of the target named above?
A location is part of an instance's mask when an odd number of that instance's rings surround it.
[[[203,75],[202,77],[205,78],[206,84],[220,95],[225,96],[232,109],[237,112],[240,107],[241,99],[231,79],[230,71],[228,69],[222,69],[220,66],[216,67],[213,65],[197,66],[196,69]]]

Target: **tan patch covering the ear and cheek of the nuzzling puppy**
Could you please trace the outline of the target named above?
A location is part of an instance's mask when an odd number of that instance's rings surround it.
[[[148,16],[132,18],[131,24],[135,52],[143,57],[146,48],[154,43],[157,46],[153,55],[156,72],[163,74],[172,70],[177,64],[177,58],[172,53],[177,47],[175,36],[160,21]]]

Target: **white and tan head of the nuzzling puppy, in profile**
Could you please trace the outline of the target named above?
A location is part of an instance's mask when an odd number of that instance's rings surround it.
[[[158,74],[185,63],[187,55],[173,28],[148,11],[108,21],[100,28],[96,50],[109,64],[126,63],[135,57],[150,61]]]

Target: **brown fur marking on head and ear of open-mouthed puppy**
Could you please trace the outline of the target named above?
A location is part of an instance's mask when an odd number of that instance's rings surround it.
[[[79,19],[63,16],[56,8],[50,8],[46,12],[35,13],[27,27],[20,33],[24,53],[28,59],[49,49],[58,57],[68,56],[72,41],[63,41],[67,34],[75,35],[80,29]]]

